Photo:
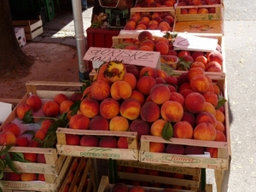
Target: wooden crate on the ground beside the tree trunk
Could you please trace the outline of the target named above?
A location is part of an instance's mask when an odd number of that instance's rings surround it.
[[[13,20],[13,26],[23,27],[28,41],[44,32],[41,16],[38,16],[38,20]]]

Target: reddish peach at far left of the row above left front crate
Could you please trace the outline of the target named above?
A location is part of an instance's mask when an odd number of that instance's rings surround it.
[[[69,128],[75,130],[88,130],[90,119],[84,114],[75,114],[69,119]]]

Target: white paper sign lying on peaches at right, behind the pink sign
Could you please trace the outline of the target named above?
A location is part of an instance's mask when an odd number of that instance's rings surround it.
[[[178,33],[173,44],[175,49],[212,51],[216,49],[218,39],[201,38],[188,33]]]

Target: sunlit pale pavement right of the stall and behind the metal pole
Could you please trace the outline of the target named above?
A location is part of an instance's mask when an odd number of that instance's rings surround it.
[[[230,192],[256,191],[256,2],[224,0],[224,53],[226,84],[230,110]],[[84,37],[90,26],[92,7],[83,11]],[[44,25],[44,33],[32,42],[76,46],[73,13],[59,11]],[[216,192],[212,170],[207,169],[207,183]],[[224,192],[224,191],[218,191]]]

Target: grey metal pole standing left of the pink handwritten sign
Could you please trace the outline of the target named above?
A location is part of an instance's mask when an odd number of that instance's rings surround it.
[[[85,39],[82,15],[82,3],[78,0],[72,0],[73,22],[75,29],[75,38],[77,42],[78,60],[79,60],[79,80],[89,80],[89,67],[83,60],[85,55]]]

